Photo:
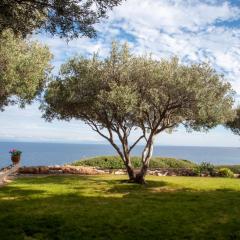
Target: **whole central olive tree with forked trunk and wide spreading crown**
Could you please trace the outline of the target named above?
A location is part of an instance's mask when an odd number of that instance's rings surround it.
[[[123,160],[130,180],[144,183],[156,136],[183,124],[208,130],[232,115],[232,90],[208,64],[180,64],[177,58],[134,56],[114,43],[105,60],[74,58],[62,66],[42,105],[44,118],[79,119],[105,138]],[[141,134],[132,144],[132,131]],[[120,141],[120,145],[116,140]],[[130,153],[145,142],[142,167]]]

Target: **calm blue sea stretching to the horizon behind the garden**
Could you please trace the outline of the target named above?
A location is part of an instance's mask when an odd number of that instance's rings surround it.
[[[63,165],[88,157],[116,155],[110,145],[104,144],[0,142],[0,168],[11,164],[9,150],[13,148],[22,151],[22,166]],[[142,149],[143,146],[136,146],[132,154],[140,155]],[[240,147],[155,146],[153,155],[195,163],[240,164]]]

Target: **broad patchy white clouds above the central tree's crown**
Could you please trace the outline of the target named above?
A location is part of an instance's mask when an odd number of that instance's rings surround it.
[[[128,0],[109,15],[96,26],[97,39],[80,38],[67,44],[56,37],[39,38],[50,46],[56,69],[74,55],[99,51],[105,56],[113,39],[126,41],[130,38],[138,54],[152,52],[158,58],[178,55],[185,61],[210,61],[234,82],[240,93],[237,83],[240,29],[224,24],[224,21],[239,19],[240,8],[225,1]]]

